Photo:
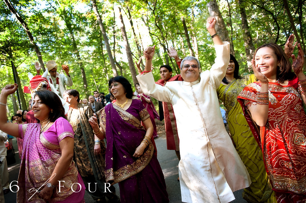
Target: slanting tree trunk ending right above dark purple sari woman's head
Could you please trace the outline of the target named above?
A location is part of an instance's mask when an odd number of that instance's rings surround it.
[[[100,26],[100,29],[101,29],[101,32],[102,32],[102,36],[103,36],[103,39],[104,39],[104,42],[105,42],[105,45],[106,45],[106,50],[107,50],[108,58],[110,60],[110,65],[112,67],[114,76],[116,77],[118,75],[118,71],[117,71],[117,68],[116,68],[116,65],[115,65],[115,62],[114,62],[114,58],[112,56],[112,51],[110,49],[110,44],[108,42],[108,37],[106,35],[106,31],[105,31],[105,28],[104,28],[101,16],[100,16],[100,14],[98,12],[98,7],[97,7],[96,0],[92,0],[92,9],[94,10],[96,18],[98,20],[98,23],[99,23],[99,26]]]

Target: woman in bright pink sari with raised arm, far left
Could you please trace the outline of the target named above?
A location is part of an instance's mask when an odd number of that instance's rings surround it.
[[[61,100],[54,92],[37,91],[32,111],[39,123],[7,123],[7,97],[17,88],[6,85],[0,94],[0,129],[24,140],[17,202],[84,203],[84,183],[72,161],[73,129]]]

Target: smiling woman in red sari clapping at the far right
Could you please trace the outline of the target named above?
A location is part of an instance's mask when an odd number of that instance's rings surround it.
[[[274,202],[306,200],[306,76],[304,53],[291,66],[284,51],[270,43],[259,47],[252,59],[258,82],[238,96],[244,115],[263,151]],[[293,69],[294,73],[291,71]]]

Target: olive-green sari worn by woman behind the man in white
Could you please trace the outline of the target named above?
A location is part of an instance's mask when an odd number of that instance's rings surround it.
[[[217,94],[227,109],[227,122],[233,145],[252,181],[250,187],[244,189],[242,197],[248,202],[254,203],[274,202],[271,197],[272,187],[263,163],[263,153],[244,118],[239,102],[237,102],[237,96],[242,89],[256,81],[254,74],[246,75],[244,78],[246,79],[234,79],[228,85],[220,84]]]

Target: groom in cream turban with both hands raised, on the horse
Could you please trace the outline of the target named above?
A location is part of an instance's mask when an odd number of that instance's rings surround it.
[[[46,63],[46,68],[48,69],[50,75],[47,76],[47,80],[49,81],[49,84],[54,86],[54,89],[56,89],[59,92],[59,95],[64,98],[63,93],[65,92],[66,88],[65,85],[71,87],[72,86],[72,79],[69,75],[69,67],[67,65],[62,65],[63,71],[65,71],[67,77],[65,74],[59,74],[57,72],[58,66],[54,60],[50,60]],[[35,63],[35,69],[37,72],[37,75],[40,74],[40,66],[39,63]]]

